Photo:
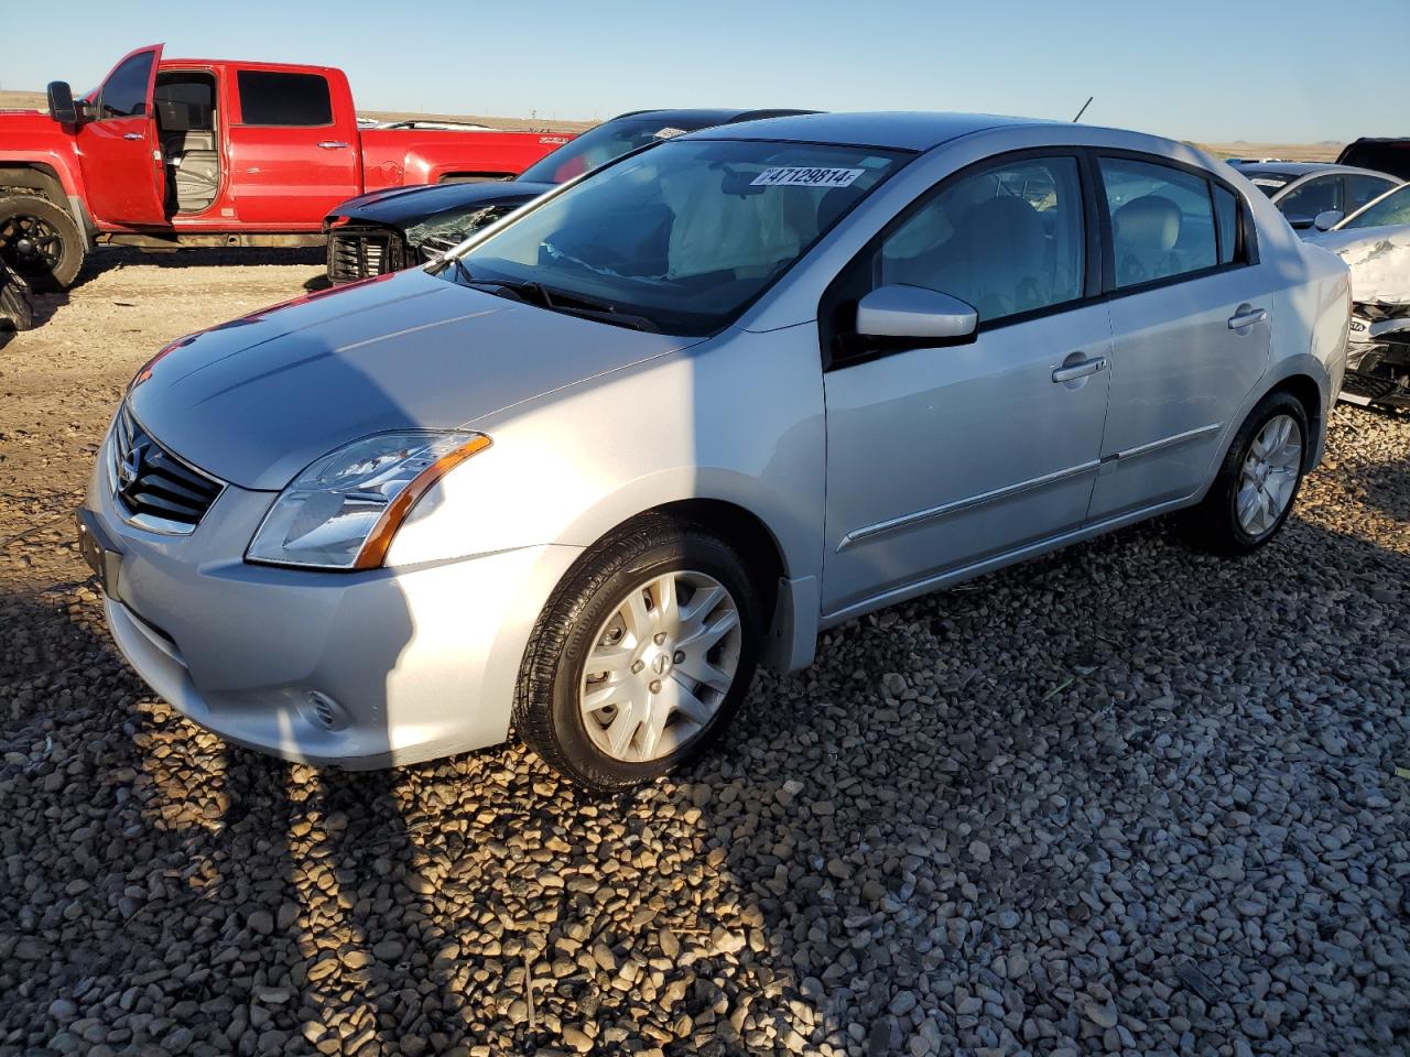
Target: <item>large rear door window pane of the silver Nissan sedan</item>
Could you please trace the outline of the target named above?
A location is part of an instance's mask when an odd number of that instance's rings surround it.
[[[1210,182],[1127,158],[1103,158],[1118,289],[1214,268],[1218,261]]]

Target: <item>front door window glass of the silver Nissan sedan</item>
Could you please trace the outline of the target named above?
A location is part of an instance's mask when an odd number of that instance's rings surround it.
[[[949,180],[881,242],[874,285],[925,286],[980,321],[1077,300],[1083,292],[1076,158],[1024,158]]]

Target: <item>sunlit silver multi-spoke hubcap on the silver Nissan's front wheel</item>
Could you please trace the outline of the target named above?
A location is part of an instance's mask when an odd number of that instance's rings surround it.
[[[670,755],[719,712],[739,669],[739,607],[704,572],[627,592],[598,629],[578,705],[594,744],[640,764]]]

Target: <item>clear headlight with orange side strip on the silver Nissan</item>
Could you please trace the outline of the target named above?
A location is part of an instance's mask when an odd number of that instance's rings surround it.
[[[489,447],[482,433],[364,437],[305,469],[269,507],[245,558],[316,569],[375,569],[416,500]]]

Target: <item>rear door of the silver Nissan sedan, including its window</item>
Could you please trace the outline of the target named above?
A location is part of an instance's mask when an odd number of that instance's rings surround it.
[[[1091,499],[1100,521],[1183,499],[1268,366],[1276,279],[1246,206],[1197,168],[1098,158],[1111,292],[1111,407]]]

